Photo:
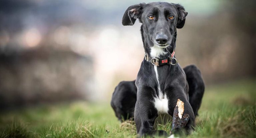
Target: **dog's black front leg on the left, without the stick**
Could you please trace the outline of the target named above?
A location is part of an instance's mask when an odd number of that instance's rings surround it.
[[[136,123],[137,134],[143,135],[165,135],[163,130],[153,130],[153,125],[158,116],[154,107],[154,90],[149,87],[138,88],[137,102],[135,104],[134,120]]]

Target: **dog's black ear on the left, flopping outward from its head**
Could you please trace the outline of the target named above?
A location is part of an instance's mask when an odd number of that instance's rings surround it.
[[[122,24],[124,26],[132,26],[136,19],[139,18],[141,14],[141,4],[132,5],[127,8],[124,13]]]

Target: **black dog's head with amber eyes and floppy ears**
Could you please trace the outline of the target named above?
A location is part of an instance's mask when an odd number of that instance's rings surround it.
[[[176,28],[185,24],[187,12],[179,4],[167,2],[141,3],[128,7],[122,24],[133,25],[136,19],[143,24],[143,34],[151,46],[165,48],[175,39]],[[147,37],[147,38],[146,38]]]

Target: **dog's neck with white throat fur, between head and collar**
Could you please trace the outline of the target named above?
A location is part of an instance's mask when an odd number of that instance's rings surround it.
[[[173,52],[173,50],[176,47],[176,36],[177,36],[176,32],[174,33],[171,44],[166,48],[160,48],[160,47],[154,45],[152,40],[150,40],[149,35],[144,34],[143,26],[141,26],[140,31],[141,31],[144,50],[151,58],[154,58],[154,57],[166,58],[171,55],[171,53]]]

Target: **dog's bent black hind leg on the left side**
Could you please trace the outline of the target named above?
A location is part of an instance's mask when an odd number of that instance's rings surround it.
[[[137,97],[137,88],[134,81],[120,82],[112,95],[111,106],[116,117],[120,120],[132,119]]]

